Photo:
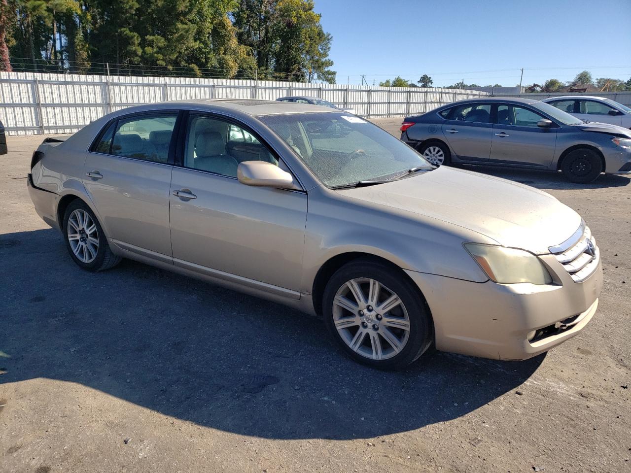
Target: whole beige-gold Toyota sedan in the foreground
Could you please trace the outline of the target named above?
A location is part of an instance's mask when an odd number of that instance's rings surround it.
[[[47,140],[30,168],[35,210],[81,268],[130,258],[319,315],[377,368],[430,347],[530,358],[598,307],[599,250],[575,211],[531,187],[435,168],[332,108],[126,108]]]

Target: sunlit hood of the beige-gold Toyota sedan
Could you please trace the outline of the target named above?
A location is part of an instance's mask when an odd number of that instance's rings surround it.
[[[527,185],[446,168],[339,194],[392,207],[481,233],[505,247],[547,254],[572,236],[581,216],[555,197]]]

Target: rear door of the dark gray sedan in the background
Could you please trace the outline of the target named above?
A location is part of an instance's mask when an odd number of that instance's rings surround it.
[[[464,161],[488,161],[493,125],[491,103],[464,103],[451,109],[442,125],[442,132]]]

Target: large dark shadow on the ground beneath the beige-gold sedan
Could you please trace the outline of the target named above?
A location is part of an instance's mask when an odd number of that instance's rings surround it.
[[[377,371],[346,358],[320,320],[281,305],[129,260],[85,272],[54,230],[1,235],[0,259],[0,383],[81,383],[242,435],[417,429],[510,392],[544,358],[436,353],[404,371]]]

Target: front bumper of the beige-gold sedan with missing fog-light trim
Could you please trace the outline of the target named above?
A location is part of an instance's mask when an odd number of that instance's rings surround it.
[[[546,264],[554,265],[553,258]],[[495,359],[528,359],[577,335],[596,312],[603,286],[601,262],[581,283],[561,270],[557,284],[542,286],[406,272],[430,307],[437,349]],[[533,330],[537,336],[528,341]]]

